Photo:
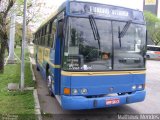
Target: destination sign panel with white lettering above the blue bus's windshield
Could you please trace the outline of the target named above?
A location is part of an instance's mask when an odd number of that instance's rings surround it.
[[[85,3],[85,2],[71,2],[70,3],[71,15],[90,15],[113,18],[113,19],[127,19],[144,21],[143,14],[140,11],[123,8],[118,6],[111,6],[105,4]]]

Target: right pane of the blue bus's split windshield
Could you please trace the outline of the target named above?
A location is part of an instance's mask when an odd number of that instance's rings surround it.
[[[123,37],[119,37],[125,22],[113,22],[115,70],[144,68],[146,29],[144,25],[131,23]]]

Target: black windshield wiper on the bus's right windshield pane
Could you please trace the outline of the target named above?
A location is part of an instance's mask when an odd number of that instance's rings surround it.
[[[121,47],[121,38],[123,38],[131,24],[132,20],[127,21],[125,26],[123,27],[122,31],[120,30],[120,26],[118,27],[118,38],[119,38],[119,45]]]

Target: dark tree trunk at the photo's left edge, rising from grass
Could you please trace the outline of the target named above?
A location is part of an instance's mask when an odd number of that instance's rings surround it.
[[[0,73],[4,72],[4,55],[8,46],[7,16],[15,0],[0,0]]]

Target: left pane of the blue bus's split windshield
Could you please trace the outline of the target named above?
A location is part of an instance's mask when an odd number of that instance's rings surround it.
[[[64,51],[66,70],[111,70],[111,22],[95,20],[101,47],[94,38],[88,18],[70,18],[69,36]]]

